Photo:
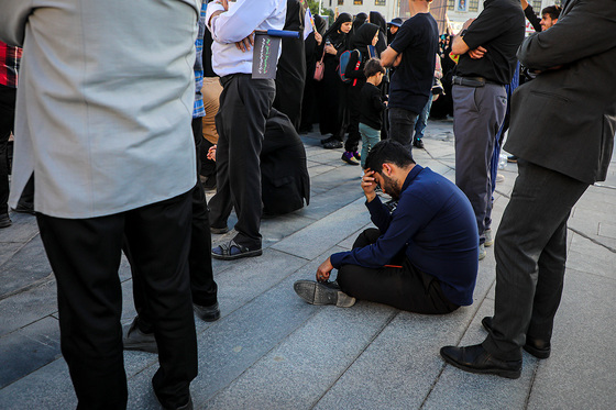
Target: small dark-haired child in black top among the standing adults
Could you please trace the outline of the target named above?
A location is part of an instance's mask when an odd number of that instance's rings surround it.
[[[365,168],[365,158],[370,148],[381,141],[381,126],[383,125],[383,110],[387,101],[383,102],[378,86],[383,81],[385,68],[378,58],[371,58],[364,66],[366,84],[362,88],[360,101],[360,133],[362,134],[362,168]]]

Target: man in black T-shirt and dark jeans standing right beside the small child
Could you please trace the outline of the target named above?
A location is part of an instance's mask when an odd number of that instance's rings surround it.
[[[432,0],[409,0],[411,18],[381,55],[384,67],[396,71],[389,84],[389,137],[410,152],[417,117],[428,102],[439,51],[439,29],[430,14]]]

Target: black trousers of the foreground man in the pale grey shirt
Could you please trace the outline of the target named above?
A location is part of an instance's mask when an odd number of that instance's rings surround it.
[[[188,192],[107,217],[36,215],[57,280],[61,347],[78,409],[127,407],[118,277],[124,237],[158,345],[154,390],[164,406],[187,402],[190,380],[197,376],[187,263],[190,217]]]

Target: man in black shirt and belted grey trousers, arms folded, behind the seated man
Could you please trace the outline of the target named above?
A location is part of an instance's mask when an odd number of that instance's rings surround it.
[[[524,32],[519,1],[486,0],[481,14],[464,23],[452,44],[452,52],[460,55],[452,79],[455,185],[475,211],[480,259],[493,243],[490,166],[507,109],[505,85],[512,82]]]

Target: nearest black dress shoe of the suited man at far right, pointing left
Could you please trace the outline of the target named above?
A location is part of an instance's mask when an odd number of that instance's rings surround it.
[[[517,379],[521,375],[521,361],[502,361],[487,353],[481,344],[473,346],[441,347],[442,358],[464,372],[496,375]]]

